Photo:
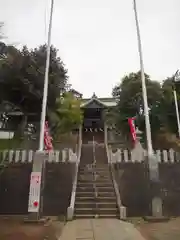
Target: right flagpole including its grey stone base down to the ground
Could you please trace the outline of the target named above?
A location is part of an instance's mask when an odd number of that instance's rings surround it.
[[[156,189],[156,187],[158,186],[157,185],[158,181],[159,181],[159,168],[158,168],[158,161],[153,153],[153,148],[152,148],[151,126],[150,126],[150,120],[149,120],[147,90],[146,90],[146,82],[145,82],[145,74],[144,74],[142,44],[141,44],[141,37],[140,37],[140,28],[139,28],[139,22],[138,22],[136,0],[133,0],[133,3],[134,3],[138,50],[139,50],[140,67],[141,67],[141,81],[142,81],[142,94],[143,94],[143,100],[144,100],[144,114],[145,114],[145,124],[146,124],[149,175],[150,175],[150,180],[154,183],[153,186]],[[152,198],[152,216],[158,217],[158,218],[162,217],[162,199],[159,196],[159,194],[157,194],[156,196],[154,196]]]

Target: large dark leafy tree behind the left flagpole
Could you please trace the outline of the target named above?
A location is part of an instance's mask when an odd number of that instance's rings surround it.
[[[37,121],[43,98],[46,50],[46,45],[32,50],[26,46],[22,50],[7,46],[6,58],[0,65],[0,103],[13,103],[25,117],[36,114]],[[67,70],[57,52],[51,46],[47,100],[47,110],[51,112],[55,110],[60,93],[69,87]]]

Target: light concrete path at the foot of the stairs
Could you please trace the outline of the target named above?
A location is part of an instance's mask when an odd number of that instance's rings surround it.
[[[138,230],[118,219],[81,219],[68,222],[59,240],[145,240]]]

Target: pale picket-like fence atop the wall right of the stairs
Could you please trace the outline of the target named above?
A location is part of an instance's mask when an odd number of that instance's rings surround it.
[[[175,163],[180,162],[180,154],[175,152],[173,149],[169,150],[156,150],[154,154],[157,157],[159,163]],[[111,163],[120,163],[120,162],[143,162],[146,159],[147,151],[143,150],[138,153],[130,150],[121,150],[118,149],[116,152],[113,152],[109,149],[110,162]]]

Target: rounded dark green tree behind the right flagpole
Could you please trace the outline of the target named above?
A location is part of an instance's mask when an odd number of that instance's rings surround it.
[[[158,82],[152,81],[145,74],[147,86],[149,115],[152,136],[161,128],[161,100],[162,91]],[[144,103],[140,72],[130,73],[113,89],[113,96],[117,99],[116,126],[124,135],[129,135],[128,118],[136,117],[136,125],[145,134]]]

